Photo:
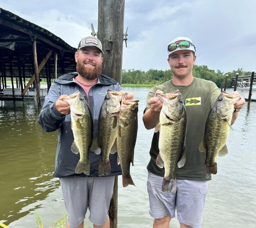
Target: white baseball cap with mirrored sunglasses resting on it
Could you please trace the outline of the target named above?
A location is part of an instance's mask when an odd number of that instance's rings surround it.
[[[180,47],[179,42],[181,42],[181,41],[187,41],[187,44],[186,44],[186,42],[185,42],[185,43],[183,44],[183,46]],[[175,48],[173,51],[170,50],[170,49],[171,49],[171,47],[170,47],[171,44],[174,44],[174,45],[172,45],[173,48]],[[175,44],[176,44],[176,45],[175,45]],[[187,47],[186,47],[186,45],[187,45]],[[168,47],[167,47],[168,57],[169,57],[169,55],[172,54],[173,52],[176,52],[176,51],[179,51],[179,50],[191,50],[191,51],[193,51],[193,52],[195,53],[195,56],[196,56],[196,47],[195,47],[195,45],[193,44],[192,40],[191,40],[190,38],[188,38],[188,37],[179,36],[179,37],[173,39],[173,40],[169,43],[169,45],[168,45]]]

